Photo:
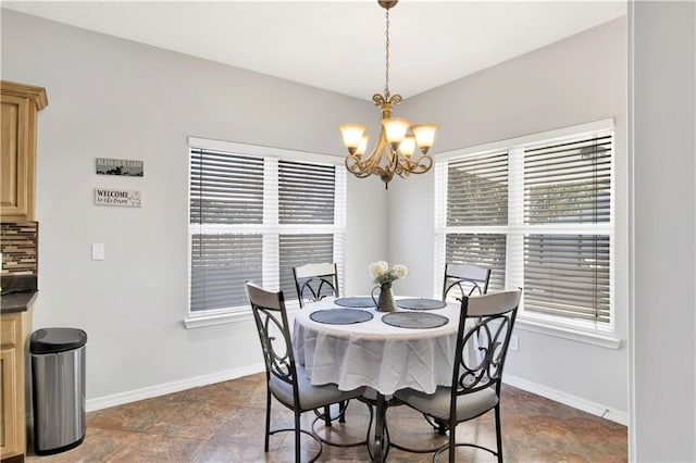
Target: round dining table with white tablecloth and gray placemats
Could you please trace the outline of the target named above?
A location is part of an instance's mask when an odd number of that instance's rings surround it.
[[[459,302],[397,298],[397,311],[378,312],[370,297],[324,298],[295,315],[296,362],[316,386],[375,391],[374,461],[386,455],[387,397],[412,388],[433,393],[450,386]]]

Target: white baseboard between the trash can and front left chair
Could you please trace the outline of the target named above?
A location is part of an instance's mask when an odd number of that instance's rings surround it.
[[[87,412],[108,409],[110,406],[123,405],[124,403],[135,402],[153,397],[164,396],[172,392],[190,389],[194,387],[208,386],[215,383],[227,381],[229,379],[240,378],[247,375],[263,372],[265,367],[262,363],[256,365],[243,366],[239,368],[227,370],[225,372],[213,373],[211,375],[197,376],[186,378],[178,381],[166,383],[157,386],[149,386],[142,389],[130,390],[127,392],[114,393],[113,396],[98,397],[89,399],[85,403]]]

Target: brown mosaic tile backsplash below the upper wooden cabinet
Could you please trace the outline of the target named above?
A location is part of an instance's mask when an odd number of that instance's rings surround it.
[[[2,275],[38,273],[38,222],[3,222],[0,224]]]

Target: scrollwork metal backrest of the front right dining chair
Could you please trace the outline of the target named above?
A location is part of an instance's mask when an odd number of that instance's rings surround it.
[[[462,298],[452,374],[452,391],[457,396],[487,387],[500,393],[521,296],[519,289]]]

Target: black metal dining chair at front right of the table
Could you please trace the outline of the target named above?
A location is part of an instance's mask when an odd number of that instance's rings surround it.
[[[455,462],[457,447],[475,447],[493,453],[498,462],[502,462],[500,387],[521,295],[522,290],[517,290],[462,298],[451,385],[439,386],[432,395],[413,389],[395,393],[406,405],[445,423],[449,429],[448,442],[435,449],[412,449],[394,441],[391,447],[418,453],[434,451],[433,461],[448,450],[450,463]],[[465,352],[474,338],[483,355],[468,355]],[[492,410],[495,413],[496,450],[474,442],[457,442],[459,423]]]

